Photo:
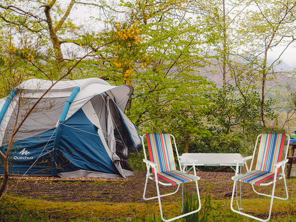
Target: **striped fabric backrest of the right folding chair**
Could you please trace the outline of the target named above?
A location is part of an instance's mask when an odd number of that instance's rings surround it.
[[[273,165],[282,160],[285,136],[286,134],[261,134],[256,170],[273,172]]]

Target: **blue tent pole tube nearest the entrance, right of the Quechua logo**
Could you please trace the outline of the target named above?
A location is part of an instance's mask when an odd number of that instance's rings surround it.
[[[78,94],[78,92],[80,91],[80,87],[76,86],[74,88],[74,90],[72,91],[71,95],[69,96],[64,109],[62,111],[62,114],[60,116],[60,120],[59,120],[59,125],[57,128],[57,132],[55,134],[54,137],[54,142],[53,142],[53,150],[52,150],[52,157],[53,160],[51,162],[51,176],[56,177],[58,175],[58,151],[59,151],[59,144],[60,144],[60,139],[61,139],[61,134],[62,134],[62,130],[63,130],[63,125],[61,123],[64,123],[68,114],[68,111],[70,109],[70,106],[72,104],[72,102],[74,101],[76,95]]]

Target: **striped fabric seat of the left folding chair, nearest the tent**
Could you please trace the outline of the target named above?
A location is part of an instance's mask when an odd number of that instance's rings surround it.
[[[178,170],[160,172],[157,173],[157,177],[171,185],[184,184],[199,180],[199,177],[197,176],[186,174]],[[153,180],[155,181],[155,179]]]

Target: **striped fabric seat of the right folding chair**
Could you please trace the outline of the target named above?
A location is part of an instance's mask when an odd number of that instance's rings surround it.
[[[262,183],[264,183],[265,181],[272,181],[274,179],[274,173],[255,170],[245,174],[234,176],[231,179],[248,184],[262,185]],[[277,178],[276,180],[278,181],[279,179]]]

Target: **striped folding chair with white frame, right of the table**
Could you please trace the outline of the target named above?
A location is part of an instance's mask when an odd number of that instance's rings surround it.
[[[288,140],[287,140],[287,147],[286,147],[286,150],[284,153],[284,158],[283,158],[284,160],[282,160],[283,151],[284,151],[285,136],[288,137]],[[258,150],[258,154],[257,154],[258,157],[257,157],[256,168],[254,171],[251,171],[252,165],[254,162],[255,153],[257,150],[257,144],[258,144],[259,138],[260,138],[260,144],[259,144],[259,150]],[[288,153],[288,148],[289,148],[289,142],[290,142],[289,135],[261,134],[257,137],[253,156],[249,156],[249,157],[245,157],[240,160],[236,160],[237,164],[239,164],[241,162],[245,162],[245,164],[246,164],[246,160],[248,160],[248,159],[252,159],[252,162],[251,162],[250,169],[248,169],[248,167],[246,165],[247,173],[237,175],[238,172],[236,172],[236,175],[231,178],[234,181],[232,197],[231,197],[231,205],[230,205],[232,211],[234,211],[238,214],[256,219],[258,221],[266,222],[266,221],[269,221],[269,219],[270,219],[273,198],[278,198],[281,200],[287,200],[289,198],[287,184],[286,184],[286,178],[285,178],[285,164],[288,162],[287,153]],[[281,168],[281,173],[280,173],[280,168]],[[237,169],[238,169],[238,167],[237,167]],[[287,195],[286,198],[274,196],[275,184],[277,181],[279,181],[281,179],[284,179],[283,181],[285,184],[286,195]],[[263,195],[263,196],[271,197],[268,219],[263,220],[263,219],[254,217],[252,215],[243,213],[240,211],[239,207],[238,207],[238,209],[239,209],[238,211],[233,209],[232,202],[233,202],[234,190],[235,190],[237,182],[251,184],[253,187],[253,190],[256,193]],[[266,185],[271,185],[271,184],[273,184],[271,195],[259,193],[255,190],[255,187],[254,187],[254,185],[266,186]]]

